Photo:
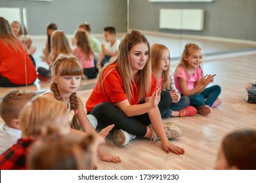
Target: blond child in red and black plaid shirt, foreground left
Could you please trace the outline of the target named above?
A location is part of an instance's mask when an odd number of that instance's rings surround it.
[[[32,144],[47,135],[70,133],[68,116],[68,108],[61,101],[43,96],[33,98],[18,118],[22,138],[0,155],[0,169],[27,169],[26,159]]]

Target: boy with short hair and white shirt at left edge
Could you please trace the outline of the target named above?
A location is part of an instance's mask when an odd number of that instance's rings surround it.
[[[28,101],[35,96],[35,93],[13,90],[5,97],[0,104],[0,115],[4,124],[0,124],[0,154],[9,149],[21,137],[18,116]]]

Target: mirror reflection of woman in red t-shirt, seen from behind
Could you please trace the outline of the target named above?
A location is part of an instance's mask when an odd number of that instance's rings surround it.
[[[35,66],[22,42],[11,33],[9,22],[0,17],[0,86],[32,84],[36,78]]]

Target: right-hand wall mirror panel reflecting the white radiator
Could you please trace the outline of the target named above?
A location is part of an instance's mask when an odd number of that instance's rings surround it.
[[[171,58],[179,59],[187,42],[214,56],[255,50],[255,8],[250,0],[130,0],[129,26],[165,44]]]

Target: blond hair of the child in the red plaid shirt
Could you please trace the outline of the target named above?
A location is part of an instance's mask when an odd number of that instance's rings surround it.
[[[60,101],[35,97],[22,108],[18,118],[22,137],[40,138],[45,127],[46,135],[58,132],[60,120],[65,115],[68,116],[68,109]]]

